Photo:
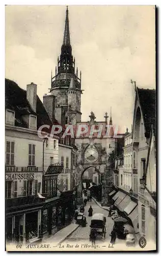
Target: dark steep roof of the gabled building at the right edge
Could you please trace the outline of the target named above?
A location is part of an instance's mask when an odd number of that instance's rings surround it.
[[[139,89],[137,87],[141,110],[143,114],[146,134],[150,136],[151,124],[153,125],[154,135],[156,128],[156,91],[149,89]]]

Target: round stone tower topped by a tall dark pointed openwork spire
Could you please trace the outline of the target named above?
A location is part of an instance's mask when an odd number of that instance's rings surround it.
[[[55,96],[55,117],[62,125],[81,122],[81,72],[75,68],[69,33],[69,11],[66,9],[65,28],[61,55],[56,74],[51,73],[51,95]]]

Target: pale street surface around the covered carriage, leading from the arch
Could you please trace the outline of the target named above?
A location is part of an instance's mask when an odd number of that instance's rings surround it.
[[[100,245],[100,244],[104,244],[105,246],[109,246],[110,241],[111,241],[111,237],[110,237],[110,233],[112,231],[113,225],[114,225],[114,221],[112,220],[111,217],[109,216],[109,211],[102,209],[101,207],[99,207],[94,200],[92,200],[92,202],[88,202],[86,207],[85,207],[85,215],[87,218],[87,226],[86,227],[82,227],[79,226],[65,241],[64,243],[67,244],[88,244],[91,245],[92,243],[89,241],[89,234],[90,234],[90,224],[91,224],[91,219],[92,217],[88,217],[88,210],[90,205],[93,208],[93,214],[104,214],[104,216],[106,217],[106,234],[105,234],[105,239],[104,241],[101,238],[97,238],[96,239],[96,245]],[[125,241],[120,241],[119,239],[116,239],[116,243],[124,243]]]

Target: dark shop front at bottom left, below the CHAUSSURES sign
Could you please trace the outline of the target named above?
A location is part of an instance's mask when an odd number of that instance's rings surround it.
[[[6,200],[6,240],[31,242],[41,233],[41,209],[43,198],[36,196]]]

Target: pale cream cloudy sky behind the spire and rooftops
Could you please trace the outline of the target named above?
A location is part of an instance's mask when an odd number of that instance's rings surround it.
[[[154,6],[69,6],[72,54],[82,71],[82,121],[112,107],[113,123],[131,131],[136,86],[155,89]],[[66,6],[6,6],[6,78],[26,90],[50,88],[61,53]],[[110,118],[109,118],[110,120]]]

